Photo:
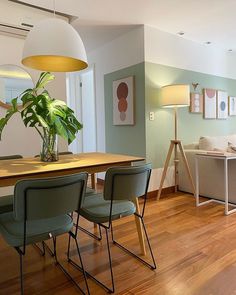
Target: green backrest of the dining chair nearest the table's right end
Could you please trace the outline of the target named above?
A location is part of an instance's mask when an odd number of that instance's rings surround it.
[[[105,200],[132,200],[147,193],[151,164],[109,168],[105,176]]]

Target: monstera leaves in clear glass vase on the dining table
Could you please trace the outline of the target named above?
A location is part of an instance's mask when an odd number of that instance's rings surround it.
[[[52,162],[58,160],[57,135],[70,144],[76,137],[76,133],[82,128],[64,101],[50,96],[45,86],[54,75],[49,72],[41,73],[36,86],[25,90],[19,97],[12,99],[11,107],[5,117],[0,119],[0,139],[4,127],[11,117],[20,113],[26,127],[34,127],[42,139],[41,160]],[[19,101],[21,106],[19,107]]]

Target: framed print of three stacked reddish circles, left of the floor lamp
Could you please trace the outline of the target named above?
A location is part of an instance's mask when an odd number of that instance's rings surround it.
[[[134,76],[113,81],[113,125],[134,125]]]

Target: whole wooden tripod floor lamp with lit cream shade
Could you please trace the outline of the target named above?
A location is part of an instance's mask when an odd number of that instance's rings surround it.
[[[186,155],[184,153],[182,142],[181,142],[181,140],[178,139],[178,133],[177,133],[177,131],[178,131],[177,109],[179,107],[189,106],[189,97],[190,97],[189,85],[182,85],[182,84],[168,85],[168,86],[162,87],[162,89],[161,89],[162,107],[174,108],[175,138],[170,141],[168,154],[166,157],[164,169],[163,169],[162,176],[161,176],[160,187],[158,190],[158,195],[157,195],[158,200],[160,199],[160,196],[161,196],[161,191],[163,188],[163,184],[164,184],[164,181],[166,178],[167,169],[168,169],[169,162],[170,162],[173,151],[174,151],[174,168],[175,168],[175,172],[174,172],[175,192],[177,191],[177,188],[178,188],[178,162],[179,162],[178,155],[177,155],[178,148],[180,151],[180,155],[183,158],[183,163],[184,163],[190,184],[192,186],[193,194],[195,194],[195,185],[193,182],[192,175],[190,173],[188,161],[187,161]]]

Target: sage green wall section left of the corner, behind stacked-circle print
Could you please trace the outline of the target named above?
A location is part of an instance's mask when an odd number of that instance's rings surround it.
[[[135,125],[113,125],[112,82],[134,76]],[[146,156],[144,63],[104,75],[106,152]]]

